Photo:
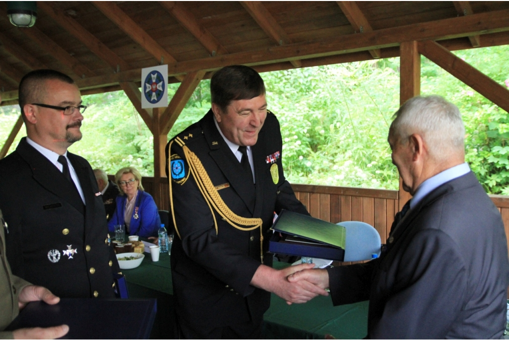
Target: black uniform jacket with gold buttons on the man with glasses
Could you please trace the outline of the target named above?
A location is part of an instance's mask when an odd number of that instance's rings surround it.
[[[114,297],[118,262],[90,164],[67,153],[86,205],[62,172],[21,139],[0,161],[0,208],[13,274],[60,297]]]

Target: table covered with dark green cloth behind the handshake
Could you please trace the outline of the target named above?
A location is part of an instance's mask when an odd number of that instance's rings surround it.
[[[281,269],[288,263],[274,262]],[[142,264],[124,269],[131,298],[157,298],[157,316],[151,338],[174,338],[173,285],[169,256],[161,254],[152,262],[145,253]],[[270,308],[264,315],[263,337],[266,339],[318,339],[325,334],[360,339],[367,334],[368,301],[333,306],[330,297],[318,296],[304,304],[288,305],[272,294]]]

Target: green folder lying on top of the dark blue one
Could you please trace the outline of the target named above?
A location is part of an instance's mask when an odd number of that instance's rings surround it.
[[[272,229],[345,249],[345,227],[297,212],[281,210]]]

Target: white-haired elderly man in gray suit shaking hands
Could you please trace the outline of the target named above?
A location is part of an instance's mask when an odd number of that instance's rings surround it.
[[[329,288],[335,305],[370,300],[371,338],[501,338],[509,283],[500,213],[464,152],[458,108],[415,97],[389,130],[392,163],[413,198],[380,258],[288,277]]]

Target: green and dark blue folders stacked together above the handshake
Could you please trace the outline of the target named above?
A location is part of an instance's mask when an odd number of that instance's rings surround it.
[[[343,261],[346,228],[297,212],[281,210],[272,225],[269,252]]]

